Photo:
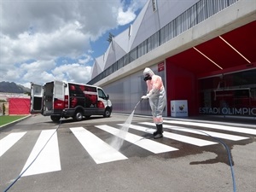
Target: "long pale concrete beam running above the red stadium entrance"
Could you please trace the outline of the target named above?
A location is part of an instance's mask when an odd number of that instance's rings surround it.
[[[160,61],[165,61],[166,58],[172,55],[181,53],[186,49],[218,37],[225,32],[230,32],[237,27],[250,23],[255,18],[256,1],[240,0],[227,9],[190,28],[188,31],[183,32],[176,38],[172,38],[166,44],[153,49],[136,61],[132,61],[127,66],[120,68],[94,85],[104,87],[132,73],[142,71],[144,67],[150,67]]]

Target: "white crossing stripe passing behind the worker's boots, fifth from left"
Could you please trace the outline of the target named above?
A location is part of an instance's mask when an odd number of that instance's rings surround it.
[[[148,128],[147,127],[143,127],[143,126],[138,126],[138,125],[130,125],[131,129],[135,129],[138,131],[144,131],[144,132],[148,132]],[[217,144],[215,142],[209,142],[207,140],[203,140],[203,139],[199,139],[199,138],[194,138],[194,137],[188,137],[188,136],[182,136],[176,133],[170,133],[170,132],[164,132],[164,137],[166,138],[170,138],[182,143],[189,143],[195,146],[207,146],[207,145],[213,145],[213,144]]]

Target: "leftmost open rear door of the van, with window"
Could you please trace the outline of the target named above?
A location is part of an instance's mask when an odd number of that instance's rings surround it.
[[[44,94],[44,90],[42,85],[31,83],[31,105],[30,105],[31,113],[42,112],[43,94]]]

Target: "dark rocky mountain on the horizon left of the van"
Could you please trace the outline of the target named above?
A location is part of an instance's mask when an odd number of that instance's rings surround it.
[[[30,89],[27,87],[24,87],[20,84],[15,84],[14,82],[0,82],[0,92],[5,93],[27,93],[30,92]]]

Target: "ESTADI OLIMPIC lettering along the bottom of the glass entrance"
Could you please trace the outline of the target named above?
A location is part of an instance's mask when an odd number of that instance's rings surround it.
[[[199,113],[256,116],[256,108],[199,108]]]

